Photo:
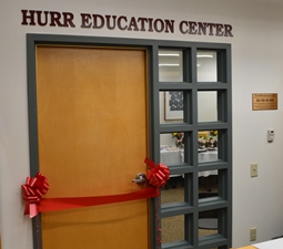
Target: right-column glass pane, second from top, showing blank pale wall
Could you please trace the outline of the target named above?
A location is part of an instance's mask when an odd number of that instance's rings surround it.
[[[198,122],[218,121],[218,92],[198,92]]]

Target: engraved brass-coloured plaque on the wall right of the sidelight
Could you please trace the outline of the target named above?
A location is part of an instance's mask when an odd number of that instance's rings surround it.
[[[253,111],[277,110],[277,93],[253,93]]]

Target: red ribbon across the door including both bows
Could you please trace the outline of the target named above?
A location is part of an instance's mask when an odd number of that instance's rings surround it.
[[[155,164],[149,158],[145,158],[144,163],[150,166],[146,178],[153,186],[134,193],[112,196],[42,198],[42,196],[47,194],[49,189],[47,177],[40,173],[38,173],[33,178],[27,177],[26,184],[21,186],[23,199],[27,201],[24,215],[29,215],[30,218],[33,218],[38,215],[38,212],[65,210],[71,208],[158,197],[160,194],[159,187],[164,186],[166,180],[170,178],[170,170],[163,164],[155,166]]]

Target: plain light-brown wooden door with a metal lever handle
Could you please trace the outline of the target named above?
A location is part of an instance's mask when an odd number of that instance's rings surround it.
[[[105,196],[146,186],[146,51],[37,46],[39,168],[46,197]],[[149,248],[146,199],[44,212],[43,249]]]

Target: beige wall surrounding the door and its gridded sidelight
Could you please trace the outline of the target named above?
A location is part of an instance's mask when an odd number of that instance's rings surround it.
[[[21,10],[68,11],[229,23],[233,38],[108,29],[21,25]],[[20,186],[29,176],[27,33],[223,42],[232,44],[233,246],[283,231],[283,2],[263,0],[2,0],[0,8],[0,230],[2,249],[32,248],[31,221],[23,217]],[[277,93],[279,110],[252,111],[252,93]],[[266,129],[275,131],[274,143]],[[259,177],[250,178],[250,164]]]

